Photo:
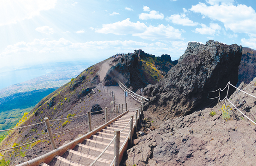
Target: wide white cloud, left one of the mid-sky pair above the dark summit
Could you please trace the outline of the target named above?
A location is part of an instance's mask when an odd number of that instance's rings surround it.
[[[95,29],[95,32],[103,33],[103,34],[134,34],[134,33],[141,33],[146,30],[147,26],[144,23],[140,23],[140,21],[137,21],[137,23],[132,23],[130,21],[130,18],[127,18],[126,20],[122,20],[121,22],[118,21],[116,23],[111,24],[103,24],[102,29]]]

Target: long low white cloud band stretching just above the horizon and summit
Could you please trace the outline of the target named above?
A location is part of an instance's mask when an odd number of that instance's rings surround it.
[[[143,51],[156,56],[171,54],[172,59],[177,59],[184,53],[186,46],[187,43],[183,41],[145,43],[133,40],[113,40],[73,43],[64,38],[59,40],[35,39],[32,42],[19,42],[7,46],[0,53],[0,66],[19,67],[60,60],[98,61],[116,53],[133,52],[134,49],[143,49]]]

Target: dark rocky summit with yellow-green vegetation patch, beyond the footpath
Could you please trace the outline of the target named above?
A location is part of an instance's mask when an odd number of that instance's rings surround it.
[[[157,83],[177,64],[177,60],[172,61],[170,55],[155,57],[140,49],[113,62],[117,64],[108,70],[103,80],[104,86],[116,86],[120,81],[128,88],[132,86],[134,92],[148,84]]]

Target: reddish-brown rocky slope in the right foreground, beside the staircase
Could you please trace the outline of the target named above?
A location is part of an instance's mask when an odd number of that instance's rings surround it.
[[[255,82],[256,78],[248,85],[241,84],[239,88],[256,96]],[[230,100],[254,120],[255,98],[236,91]],[[255,166],[255,124],[246,120],[246,117],[230,103],[227,103],[232,109],[229,112],[230,119],[224,120],[222,104],[224,101],[213,108],[166,120],[154,131],[150,131],[150,127],[155,121],[151,123],[149,120],[144,120],[142,126],[146,126],[147,129],[143,127],[142,130],[145,134],[147,132],[144,131],[149,131],[148,135],[134,140],[134,146],[127,150],[128,157],[122,161],[122,165]],[[210,112],[216,114],[211,116]],[[144,112],[144,114],[148,113]]]

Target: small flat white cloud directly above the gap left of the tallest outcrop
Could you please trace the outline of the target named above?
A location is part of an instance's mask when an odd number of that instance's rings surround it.
[[[170,17],[166,18],[167,21],[172,21],[174,24],[183,25],[183,26],[196,26],[198,23],[194,23],[192,20],[189,20],[186,17],[186,14],[173,14]]]

